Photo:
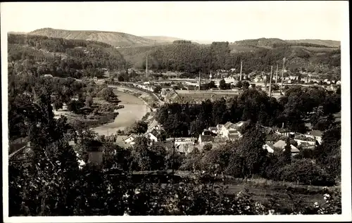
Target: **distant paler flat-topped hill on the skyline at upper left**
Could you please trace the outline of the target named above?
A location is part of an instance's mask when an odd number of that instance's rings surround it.
[[[154,41],[151,39],[145,39],[143,37],[137,37],[132,34],[123,32],[76,31],[43,28],[34,30],[28,34],[62,39],[83,39],[95,42],[103,42],[118,47],[149,46],[154,44]]]

